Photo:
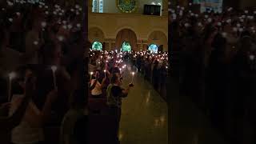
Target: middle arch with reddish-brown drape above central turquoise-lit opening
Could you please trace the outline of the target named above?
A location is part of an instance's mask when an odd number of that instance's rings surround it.
[[[132,50],[137,50],[137,35],[133,30],[122,29],[116,35],[115,46],[121,49],[123,42],[129,42]]]

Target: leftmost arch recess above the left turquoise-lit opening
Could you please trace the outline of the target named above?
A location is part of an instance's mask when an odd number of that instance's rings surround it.
[[[99,41],[104,42],[105,33],[99,26],[90,27],[88,30],[88,38],[90,42]]]

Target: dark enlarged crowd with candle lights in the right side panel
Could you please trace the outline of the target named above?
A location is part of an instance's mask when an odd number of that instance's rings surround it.
[[[244,126],[256,128],[256,10],[193,10],[192,4],[169,10],[170,47],[179,53],[180,94],[204,110],[232,143],[254,143],[255,135],[244,137],[249,130]]]

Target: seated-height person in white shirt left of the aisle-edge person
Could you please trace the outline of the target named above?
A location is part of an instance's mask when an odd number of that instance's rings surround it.
[[[95,78],[90,82],[90,90],[92,98],[101,98],[102,97],[102,88],[104,87],[106,78],[102,79],[102,83],[99,82],[99,72],[96,71]]]

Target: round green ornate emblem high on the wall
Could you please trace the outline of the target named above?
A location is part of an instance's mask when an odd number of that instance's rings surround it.
[[[122,13],[132,13],[138,7],[138,0],[117,0],[116,3]]]

